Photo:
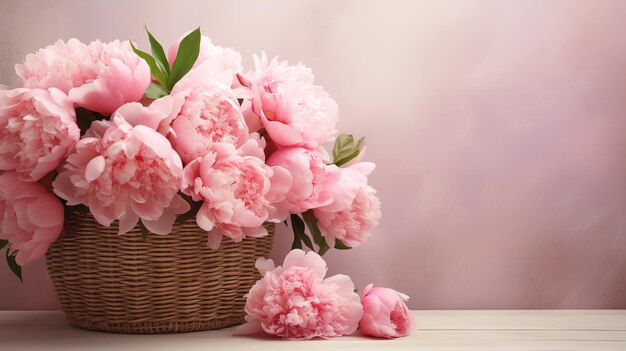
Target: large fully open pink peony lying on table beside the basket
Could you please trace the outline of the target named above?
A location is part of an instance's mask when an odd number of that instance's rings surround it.
[[[263,278],[246,296],[246,321],[236,334],[264,331],[294,340],[352,334],[363,315],[350,277],[324,279],[326,262],[315,252],[292,250],[282,267],[257,259]]]

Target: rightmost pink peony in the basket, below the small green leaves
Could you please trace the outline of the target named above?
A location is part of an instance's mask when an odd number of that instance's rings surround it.
[[[382,215],[376,190],[369,185],[359,188],[348,208],[336,212],[314,209],[313,213],[329,245],[334,245],[335,239],[339,239],[350,247],[364,242]]]

